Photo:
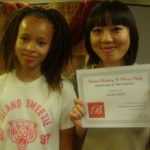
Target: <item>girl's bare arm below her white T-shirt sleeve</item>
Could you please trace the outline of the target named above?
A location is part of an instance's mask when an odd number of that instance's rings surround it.
[[[73,150],[73,130],[69,128],[60,131],[60,150]]]

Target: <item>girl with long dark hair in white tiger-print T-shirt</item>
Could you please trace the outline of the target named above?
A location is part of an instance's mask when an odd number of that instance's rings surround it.
[[[72,150],[75,92],[62,77],[70,39],[55,9],[25,7],[10,19],[0,44],[1,150]]]

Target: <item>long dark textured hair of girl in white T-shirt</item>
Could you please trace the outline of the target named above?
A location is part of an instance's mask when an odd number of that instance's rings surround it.
[[[54,35],[48,55],[41,65],[41,72],[52,88],[60,89],[61,74],[72,57],[72,38],[65,17],[55,9],[28,6],[18,10],[11,16],[0,42],[0,61],[3,64],[3,69],[5,72],[15,69],[14,49],[19,25],[24,17],[30,15],[47,19],[53,24]]]

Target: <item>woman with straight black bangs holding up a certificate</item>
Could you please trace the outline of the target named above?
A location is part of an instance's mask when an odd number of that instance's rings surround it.
[[[133,65],[138,49],[138,32],[129,8],[119,1],[105,1],[93,7],[87,20],[85,46],[89,54],[86,68]],[[70,117],[78,136],[85,136],[83,150],[148,149],[149,129],[84,129],[81,125],[85,114],[84,102],[76,99],[74,103]]]

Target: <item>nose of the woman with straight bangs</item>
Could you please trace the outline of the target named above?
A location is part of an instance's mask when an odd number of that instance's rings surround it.
[[[101,34],[101,41],[102,42],[112,42],[113,36],[110,31],[103,31]]]

